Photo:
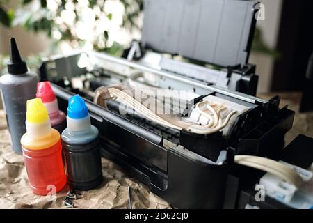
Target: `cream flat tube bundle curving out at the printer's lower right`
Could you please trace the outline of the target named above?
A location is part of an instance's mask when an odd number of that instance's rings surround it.
[[[247,167],[253,167],[268,173],[274,174],[282,180],[287,181],[299,187],[303,183],[302,178],[296,173],[294,169],[287,167],[280,162],[275,160],[270,160],[264,157],[257,157],[252,155],[236,155],[234,157],[234,162]]]

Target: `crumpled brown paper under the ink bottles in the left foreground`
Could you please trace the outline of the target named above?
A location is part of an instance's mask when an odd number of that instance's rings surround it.
[[[22,155],[11,150],[6,118],[0,112],[0,208],[66,208],[63,200],[68,187],[51,196],[33,194],[27,180]],[[117,164],[102,158],[104,180],[94,190],[80,192],[72,200],[74,208],[128,208],[128,186],[132,208],[170,208],[169,203],[150,192],[149,188],[129,178]]]

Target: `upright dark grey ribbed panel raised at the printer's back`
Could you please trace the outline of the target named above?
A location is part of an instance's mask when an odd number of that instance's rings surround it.
[[[145,0],[143,47],[217,66],[248,61],[257,1]]]

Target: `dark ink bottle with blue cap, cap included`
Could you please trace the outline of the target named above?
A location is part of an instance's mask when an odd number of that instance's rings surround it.
[[[90,190],[102,182],[99,131],[90,123],[83,98],[74,95],[68,101],[67,128],[62,144],[67,183],[73,190]]]

